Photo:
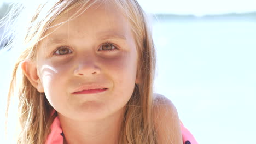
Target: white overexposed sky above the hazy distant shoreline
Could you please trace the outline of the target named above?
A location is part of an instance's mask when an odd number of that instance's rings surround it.
[[[18,0],[1,1],[10,2]],[[193,14],[203,16],[206,14],[247,13],[256,11],[255,0],[138,0],[138,2],[147,13]]]

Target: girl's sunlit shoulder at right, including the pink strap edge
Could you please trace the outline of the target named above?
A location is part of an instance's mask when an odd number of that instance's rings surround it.
[[[160,143],[197,144],[194,136],[184,127],[170,99],[154,94],[153,119]]]

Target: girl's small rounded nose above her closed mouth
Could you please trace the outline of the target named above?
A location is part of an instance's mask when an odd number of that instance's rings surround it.
[[[74,75],[76,76],[91,76],[101,73],[100,67],[96,65],[96,62],[89,61],[80,61],[77,68],[74,70]]]

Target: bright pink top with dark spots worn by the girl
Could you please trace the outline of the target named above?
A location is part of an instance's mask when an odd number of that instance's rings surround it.
[[[63,131],[62,131],[61,123],[58,116],[54,119],[50,129],[51,129],[51,133],[48,135],[45,144],[63,144]],[[198,144],[194,136],[190,133],[188,129],[184,127],[182,122],[181,122],[181,131],[182,131],[183,144]]]

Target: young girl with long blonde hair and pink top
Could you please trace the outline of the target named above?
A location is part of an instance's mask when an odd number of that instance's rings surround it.
[[[136,0],[22,8],[8,96],[19,101],[16,143],[197,143],[171,101],[153,94],[154,44]]]

